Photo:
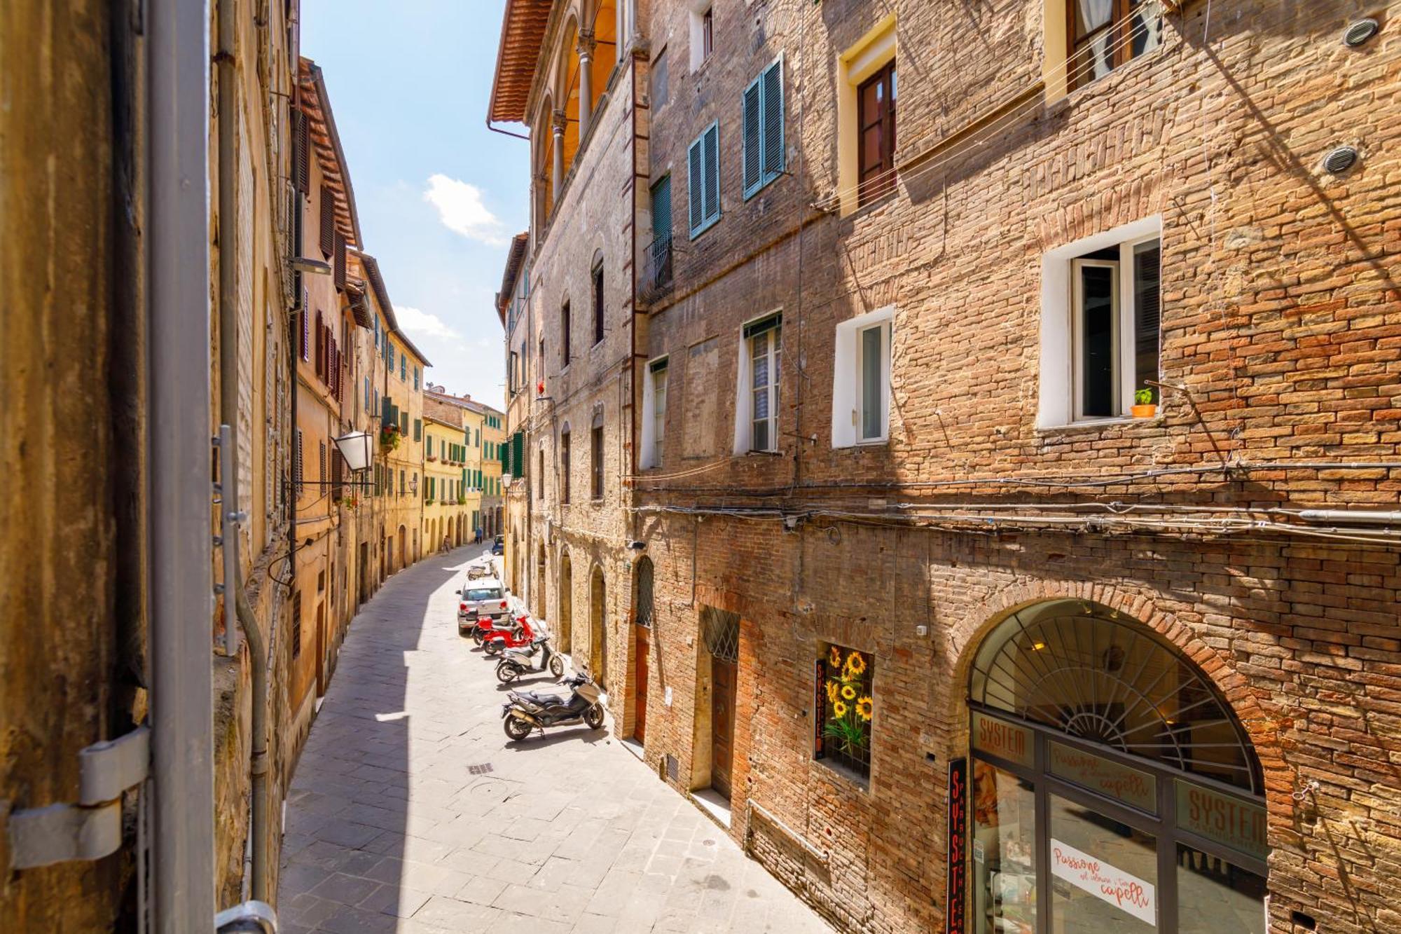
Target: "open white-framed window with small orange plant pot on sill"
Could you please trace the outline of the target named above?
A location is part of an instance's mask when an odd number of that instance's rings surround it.
[[[1119,418],[1135,393],[1157,402],[1161,219],[1045,254],[1038,428]]]

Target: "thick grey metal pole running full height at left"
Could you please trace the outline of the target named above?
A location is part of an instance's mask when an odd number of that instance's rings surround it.
[[[209,8],[147,0],[151,930],[214,919]]]

